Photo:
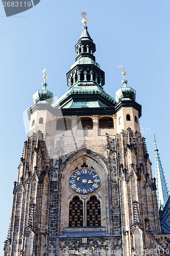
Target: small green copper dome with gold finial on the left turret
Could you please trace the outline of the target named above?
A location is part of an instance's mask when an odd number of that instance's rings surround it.
[[[43,75],[44,81],[42,83],[42,90],[38,90],[34,95],[33,95],[33,100],[34,103],[50,103],[52,104],[54,102],[54,96],[53,93],[46,90],[47,83],[46,83],[46,78],[47,75]]]

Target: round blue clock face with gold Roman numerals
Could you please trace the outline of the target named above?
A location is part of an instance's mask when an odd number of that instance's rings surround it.
[[[88,194],[100,185],[100,177],[91,169],[76,170],[69,177],[70,187],[78,193]]]

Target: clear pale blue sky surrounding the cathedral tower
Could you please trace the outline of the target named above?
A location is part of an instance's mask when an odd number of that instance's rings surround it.
[[[75,62],[75,44],[83,27],[80,12],[85,5],[96,61],[105,71],[104,89],[115,97],[122,86],[117,66],[124,65],[128,85],[136,90],[136,101],[142,105],[140,126],[153,173],[155,133],[170,187],[170,2],[41,0],[36,7],[8,18],[1,4],[1,255],[11,217],[13,182],[27,139],[23,112],[41,89],[44,68],[47,89],[58,98],[67,91],[66,72]]]

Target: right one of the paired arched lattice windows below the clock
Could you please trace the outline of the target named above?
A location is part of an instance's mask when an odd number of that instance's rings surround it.
[[[101,226],[101,204],[94,196],[87,202],[87,226]]]

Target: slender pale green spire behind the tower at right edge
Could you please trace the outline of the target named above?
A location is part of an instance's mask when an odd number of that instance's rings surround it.
[[[155,174],[156,174],[156,186],[157,186],[157,199],[158,207],[164,207],[169,197],[168,189],[163,173],[162,164],[160,161],[160,155],[158,153],[157,143],[155,140]]]

